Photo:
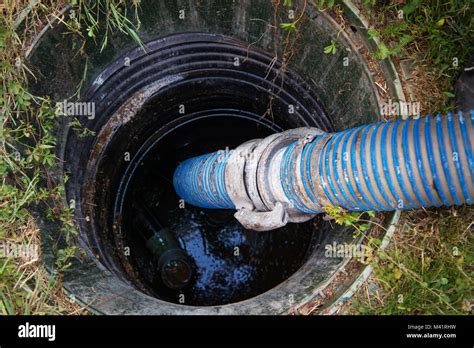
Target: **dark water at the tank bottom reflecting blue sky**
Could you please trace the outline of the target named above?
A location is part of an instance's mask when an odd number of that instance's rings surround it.
[[[122,233],[132,267],[156,297],[196,306],[238,302],[270,290],[305,262],[311,253],[311,221],[269,232],[245,230],[233,210],[183,208],[172,185],[173,171],[184,159],[273,132],[246,118],[204,118],[175,128],[141,159],[125,193]],[[134,223],[144,206],[156,229],[166,228],[189,256],[193,275],[184,288],[170,289],[161,280],[145,245],[150,236]]]

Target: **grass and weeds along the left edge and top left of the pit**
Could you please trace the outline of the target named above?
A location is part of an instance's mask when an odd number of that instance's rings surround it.
[[[52,20],[62,21],[64,1],[5,1],[0,5],[0,314],[72,314],[84,309],[74,303],[61,287],[61,274],[70,258],[80,255],[72,209],[63,206],[63,183],[50,174],[58,163],[54,155],[56,140],[52,135],[60,117],[48,98],[28,93],[28,80],[34,76],[24,64],[28,42]],[[134,8],[139,3],[134,1]],[[121,31],[138,44],[136,27],[128,19],[125,1],[71,1],[67,28],[85,40],[95,40],[99,18],[105,27],[101,47],[109,33]],[[29,12],[23,12],[29,8]],[[24,27],[17,30],[19,18]],[[84,136],[89,133],[70,120]],[[43,204],[47,216],[61,223],[56,252],[56,274],[42,265],[41,254],[10,256],[6,250],[40,250],[39,231],[30,207]],[[6,256],[6,257],[5,257]]]

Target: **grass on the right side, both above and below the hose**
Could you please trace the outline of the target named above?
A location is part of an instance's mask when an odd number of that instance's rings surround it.
[[[472,4],[364,2],[372,25],[369,38],[382,42],[375,56],[391,57],[399,71],[401,61],[414,63],[409,98],[420,102],[424,114],[452,110],[454,84],[474,54]],[[473,222],[474,207],[404,212],[402,227],[387,251],[376,252],[374,275],[349,312],[472,314]]]

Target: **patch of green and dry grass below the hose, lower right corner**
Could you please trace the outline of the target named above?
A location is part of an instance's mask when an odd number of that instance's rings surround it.
[[[405,213],[374,277],[353,301],[360,314],[468,314],[473,299],[474,209]]]

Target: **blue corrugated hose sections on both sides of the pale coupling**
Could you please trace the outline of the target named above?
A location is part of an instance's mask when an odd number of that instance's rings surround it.
[[[279,178],[286,203],[303,213],[327,205],[390,211],[474,200],[474,110],[379,122],[298,144],[283,150]],[[177,194],[195,206],[235,209],[225,182],[231,154],[181,163]]]

